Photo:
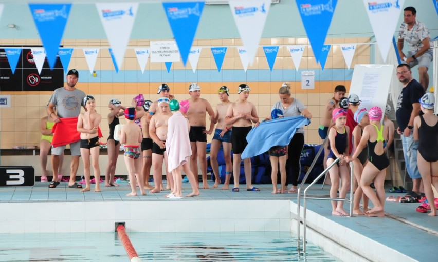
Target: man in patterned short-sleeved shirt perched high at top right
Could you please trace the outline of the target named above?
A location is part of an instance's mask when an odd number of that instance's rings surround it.
[[[398,53],[400,58],[410,67],[418,65],[419,83],[426,91],[429,86],[427,69],[432,61],[432,48],[430,47],[430,34],[426,26],[417,21],[414,7],[404,9],[404,22],[398,32]],[[404,42],[408,43],[410,51],[403,53]]]

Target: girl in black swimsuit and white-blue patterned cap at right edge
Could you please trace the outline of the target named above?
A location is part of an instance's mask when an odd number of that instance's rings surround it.
[[[426,93],[419,103],[424,115],[414,118],[414,140],[419,140],[417,163],[426,198],[429,201],[430,216],[436,216],[432,185],[438,188],[438,116],[433,114],[435,96]]]

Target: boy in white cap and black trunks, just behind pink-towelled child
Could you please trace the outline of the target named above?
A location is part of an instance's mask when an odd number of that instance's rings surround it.
[[[192,83],[189,86],[190,94],[190,108],[187,112],[187,117],[190,122],[190,146],[192,148],[192,155],[190,156],[190,168],[197,177],[198,173],[198,159],[200,165],[200,171],[202,173],[203,188],[208,188],[207,183],[207,135],[213,133],[214,124],[214,111],[210,103],[203,98],[200,98],[200,87],[196,83]],[[210,115],[210,127],[205,129],[207,113]],[[196,179],[198,181],[198,179]],[[197,182],[199,184],[199,182]],[[198,185],[199,186],[199,185]]]

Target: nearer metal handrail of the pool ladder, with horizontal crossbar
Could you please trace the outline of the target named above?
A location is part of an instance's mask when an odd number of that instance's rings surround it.
[[[308,190],[316,183],[318,180],[326,173],[328,170],[330,170],[335,164],[339,162],[339,158],[337,158],[330,166],[328,166],[324,171],[321,172],[321,174],[318,175],[316,179],[313,180],[311,184],[309,184],[304,189],[304,205],[303,205],[303,252],[306,252],[306,214],[307,214],[307,199],[314,199],[314,200],[334,200],[334,201],[345,201],[350,202],[350,217],[353,215],[353,181],[354,181],[354,175],[353,175],[353,162],[350,162],[350,199],[347,198],[331,198],[331,197],[307,197]],[[303,184],[303,183],[302,183]],[[301,189],[301,186],[300,186]],[[300,189],[298,190],[298,201],[297,201],[297,250],[300,250],[300,242],[301,242],[301,234],[300,234],[300,227],[301,227],[301,200],[300,200]]]

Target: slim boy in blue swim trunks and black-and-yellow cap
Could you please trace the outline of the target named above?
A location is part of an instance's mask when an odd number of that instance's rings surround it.
[[[219,173],[219,164],[217,163],[217,153],[221,148],[221,144],[224,152],[225,159],[225,183],[222,187],[223,190],[230,189],[230,178],[232,174],[233,164],[231,162],[231,125],[225,123],[225,117],[227,115],[228,107],[231,105],[228,96],[230,91],[228,87],[223,86],[218,91],[220,104],[216,106],[216,112],[214,118],[217,119],[216,130],[214,131],[213,140],[211,140],[210,147],[210,163],[213,169],[214,177],[216,181],[214,182],[213,188],[217,188],[221,184],[221,174]]]

